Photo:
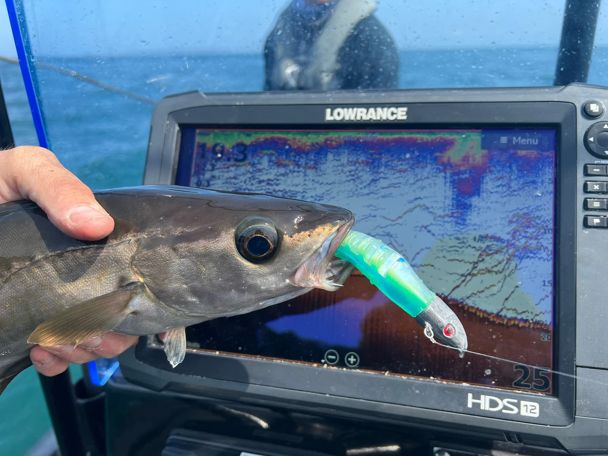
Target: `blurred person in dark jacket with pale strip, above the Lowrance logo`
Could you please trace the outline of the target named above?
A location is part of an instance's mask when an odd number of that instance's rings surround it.
[[[266,40],[264,90],[392,89],[399,57],[375,0],[292,0]]]

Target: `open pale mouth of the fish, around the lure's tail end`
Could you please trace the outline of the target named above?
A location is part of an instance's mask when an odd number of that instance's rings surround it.
[[[302,288],[336,291],[353,272],[354,266],[335,256],[336,250],[354,225],[354,218],[340,225],[330,237],[289,278]]]

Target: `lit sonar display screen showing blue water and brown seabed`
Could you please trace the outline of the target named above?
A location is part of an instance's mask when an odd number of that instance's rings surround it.
[[[551,394],[555,163],[548,129],[184,128],[176,184],[350,209],[354,229],[403,255],[480,354],[432,344],[358,271],[336,292],[192,326],[188,345]]]

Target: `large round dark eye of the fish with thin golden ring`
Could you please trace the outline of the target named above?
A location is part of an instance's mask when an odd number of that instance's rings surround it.
[[[277,250],[277,229],[266,218],[248,218],[238,226],[234,240],[238,253],[245,260],[250,263],[265,263]]]

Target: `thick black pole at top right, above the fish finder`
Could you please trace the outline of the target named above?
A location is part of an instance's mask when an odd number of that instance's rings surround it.
[[[601,0],[566,0],[554,86],[587,82]]]

